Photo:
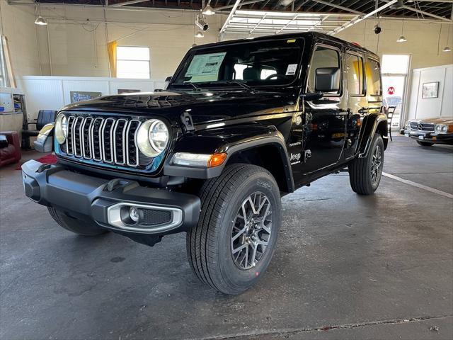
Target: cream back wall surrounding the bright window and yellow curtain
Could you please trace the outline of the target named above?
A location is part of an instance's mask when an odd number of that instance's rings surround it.
[[[195,12],[189,11],[104,12],[83,6],[42,6],[41,13],[48,23],[38,28],[40,47],[46,50],[42,69],[53,76],[109,77],[106,44],[117,40],[118,45],[150,47],[151,78],[165,79],[194,42],[217,41],[221,20],[221,16],[207,18],[210,30],[198,39],[193,36]]]

